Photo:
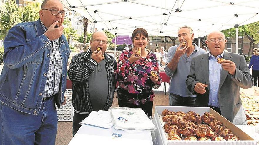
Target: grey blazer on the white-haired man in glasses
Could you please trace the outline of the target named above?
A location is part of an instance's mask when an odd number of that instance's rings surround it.
[[[239,54],[224,52],[224,59],[231,60],[236,65],[236,74],[232,76],[221,69],[218,100],[223,117],[235,125],[245,125],[246,117],[240,99],[240,87],[247,89],[253,86],[253,76],[247,67],[245,58]],[[207,84],[206,93],[197,94],[195,106],[207,107],[209,103],[209,57],[201,54],[192,58],[190,73],[187,76],[187,88],[193,93],[196,83]]]

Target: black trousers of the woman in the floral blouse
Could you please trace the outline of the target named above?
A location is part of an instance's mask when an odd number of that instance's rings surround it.
[[[152,116],[153,101],[146,102],[145,104],[138,106],[130,103],[124,103],[118,100],[118,104],[119,104],[119,107],[141,108],[145,112],[145,114],[148,115],[148,117]]]

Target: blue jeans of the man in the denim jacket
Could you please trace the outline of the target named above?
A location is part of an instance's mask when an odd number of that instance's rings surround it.
[[[54,97],[42,102],[38,115],[15,110],[0,101],[0,145],[54,145],[57,110]]]

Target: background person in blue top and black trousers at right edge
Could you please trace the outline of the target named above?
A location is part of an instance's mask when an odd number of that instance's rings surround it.
[[[254,77],[254,86],[258,85],[258,87],[259,87],[259,48],[254,48],[253,54],[254,55],[251,57],[248,69],[250,69],[252,67],[252,75]]]

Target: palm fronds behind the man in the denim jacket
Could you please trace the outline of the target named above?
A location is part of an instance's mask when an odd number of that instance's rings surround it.
[[[22,22],[31,22],[39,19],[39,10],[41,4],[28,4],[24,7],[18,7],[15,0],[5,3],[0,11],[0,40],[4,39],[7,32],[16,24]]]

